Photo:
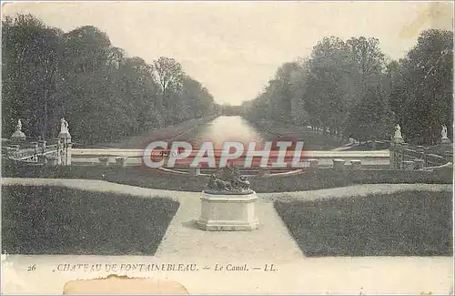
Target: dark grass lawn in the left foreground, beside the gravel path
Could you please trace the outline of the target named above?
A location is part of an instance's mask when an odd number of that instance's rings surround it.
[[[164,198],[4,186],[2,251],[153,255],[178,206],[177,201]]]

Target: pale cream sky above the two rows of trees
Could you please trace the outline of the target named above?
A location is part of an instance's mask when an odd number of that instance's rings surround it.
[[[16,2],[68,32],[96,26],[128,56],[174,57],[218,103],[241,104],[285,62],[309,56],[324,36],[372,36],[400,58],[426,28],[453,28],[452,2]]]

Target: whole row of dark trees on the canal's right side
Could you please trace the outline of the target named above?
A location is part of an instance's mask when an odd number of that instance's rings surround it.
[[[379,40],[330,36],[307,59],[286,63],[252,101],[252,120],[311,126],[358,140],[389,139],[399,124],[407,141],[432,145],[452,127],[453,32],[427,30],[399,61]]]

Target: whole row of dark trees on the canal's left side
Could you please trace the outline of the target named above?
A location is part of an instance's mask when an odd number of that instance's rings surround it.
[[[34,15],[2,21],[2,124],[56,137],[66,117],[78,142],[116,140],[217,112],[206,87],[173,58],[126,56],[94,26],[64,33]]]

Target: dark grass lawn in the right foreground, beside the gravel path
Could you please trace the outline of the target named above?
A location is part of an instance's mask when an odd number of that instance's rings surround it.
[[[452,255],[450,192],[276,201],[275,209],[308,257]]]

